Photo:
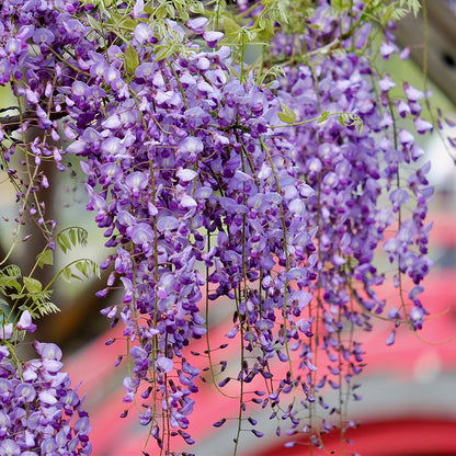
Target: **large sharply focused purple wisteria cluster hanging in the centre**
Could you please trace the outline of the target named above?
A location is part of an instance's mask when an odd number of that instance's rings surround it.
[[[289,153],[280,138],[267,147],[261,139],[276,99],[229,77],[227,47],[208,53],[193,46],[172,62],[153,61],[153,54],[147,61],[156,41],[151,30],[136,27],[132,45],[146,61],[128,91],[118,84],[110,92],[105,114],[94,114],[96,124],[79,130],[67,151],[87,157],[89,208],[106,229],[106,244],[117,247],[111,261],[125,288],[124,307],[105,312],[119,315],[124,335],[138,342],[129,351],[135,367],[124,400],[132,401],[141,383],[158,385],[169,425],[186,429],[200,371],[182,350],[206,332],[200,287],[207,281],[210,299],[231,297],[229,337],[240,331],[249,338],[247,350],[263,351],[240,376],[266,375],[273,328],[284,333],[286,346],[286,319],[299,316],[309,299],[292,282],[312,274],[308,256],[315,248],[303,202],[314,191],[284,159]],[[88,57],[84,65],[106,83],[107,61],[95,53]],[[77,89],[82,84],[62,88],[67,105],[89,106],[88,88]],[[155,403],[141,422],[152,421],[152,435],[161,441]]]

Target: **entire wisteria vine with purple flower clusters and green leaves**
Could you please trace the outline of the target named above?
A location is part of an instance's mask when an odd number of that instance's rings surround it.
[[[374,55],[400,53],[389,21],[399,10],[304,3],[289,21],[274,1],[239,1],[232,11],[219,1],[5,0],[0,9],[0,83],[18,100],[0,130],[16,221],[29,214],[42,227],[37,266],[66,249],[39,201],[48,186],[41,167],[54,161],[65,172],[62,156],[78,156],[87,208],[114,248],[98,295],[123,288],[103,314],[123,324],[124,402],[139,407],[160,454],[175,454],[176,435],[194,443],[186,430],[202,381],[239,401],[235,454],[241,422],[262,435],[248,415],[254,407],[321,446],[321,433],[353,425],[345,397],[358,398],[354,377],[365,362],[355,329],[388,320],[392,344],[399,326],[420,330],[428,315],[419,295],[431,267],[433,189],[414,134],[432,125],[421,116],[425,94],[404,82],[398,95]],[[42,134],[31,137],[32,127]],[[414,166],[407,178],[403,166]],[[381,297],[381,251],[398,307]],[[81,264],[87,273],[90,263]],[[29,362],[14,351],[32,318],[55,310],[47,287],[8,266],[1,274],[7,297],[19,288],[2,312],[0,448],[88,455],[88,417],[60,373],[60,350],[35,342],[41,360]],[[228,368],[212,358],[215,306],[231,316],[221,347],[240,347]],[[207,342],[203,369],[196,340]],[[340,391],[338,404],[326,403],[328,386]]]

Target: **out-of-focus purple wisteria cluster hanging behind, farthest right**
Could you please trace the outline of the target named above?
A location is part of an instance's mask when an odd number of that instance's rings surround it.
[[[319,369],[305,377],[304,389],[310,395],[309,429],[316,426],[323,409],[344,413],[342,404],[331,409],[324,402],[321,391],[326,385],[347,392],[357,387],[352,381],[364,366],[364,352],[352,331],[369,331],[373,319],[385,312],[381,285],[386,277],[377,261],[381,250],[396,267],[392,282],[400,300],[399,308],[387,309],[392,322],[387,344],[394,343],[400,324],[421,329],[428,314],[419,294],[432,265],[426,254],[432,224],[425,223],[433,195],[425,179],[430,163],[402,174],[403,166],[415,163],[423,150],[413,134],[399,125],[401,118],[411,117],[418,134],[429,132],[432,125],[420,116],[424,94],[404,82],[403,95],[395,99],[390,91],[396,83],[390,76],[377,73],[371,57],[361,54],[371,24],[356,35],[349,32],[363,9],[362,2],[354,2],[350,14],[334,15],[331,7],[321,2],[308,20],[305,35],[277,34],[271,46],[273,61],[308,56],[300,65],[283,67],[277,99],[288,118],[277,113],[281,118],[273,124],[282,125],[280,137],[289,144],[288,158],[315,190],[303,210],[309,229],[317,229],[317,278],[303,276],[298,283],[314,294],[306,314],[307,324],[312,324],[304,330],[318,328],[319,338],[300,341],[300,357],[308,363],[318,352],[326,352],[327,361],[320,358]],[[324,52],[322,57],[321,49],[331,46],[338,52]],[[387,34],[380,54],[387,59],[395,53],[394,37]],[[406,53],[401,57],[407,58]],[[356,116],[363,121],[362,129],[354,125]],[[415,207],[410,208],[413,201]],[[396,235],[387,237],[391,229]],[[409,293],[406,277],[411,282]],[[314,395],[318,395],[321,413],[311,404]],[[354,394],[354,398],[358,396]],[[292,429],[300,424],[295,420]],[[322,429],[331,428],[323,420]]]

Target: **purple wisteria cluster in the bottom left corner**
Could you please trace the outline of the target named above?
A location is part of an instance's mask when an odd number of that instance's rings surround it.
[[[34,343],[39,358],[23,363],[13,347],[15,330],[33,332],[25,310],[15,328],[0,332],[0,453],[9,456],[88,456],[90,424],[78,388],[61,372],[61,350],[54,343]]]

